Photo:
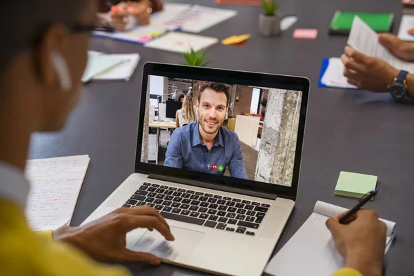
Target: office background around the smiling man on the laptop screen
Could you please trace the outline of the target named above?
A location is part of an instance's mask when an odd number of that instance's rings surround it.
[[[149,76],[141,161],[162,166],[180,95],[196,105],[201,80]],[[237,134],[248,179],[290,186],[295,163],[302,92],[226,83],[228,119],[222,125]],[[182,97],[182,96],[181,96]],[[195,109],[196,110],[196,109]],[[224,175],[230,176],[228,170]]]

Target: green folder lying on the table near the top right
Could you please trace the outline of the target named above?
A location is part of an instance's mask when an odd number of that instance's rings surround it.
[[[353,19],[356,15],[375,30],[375,32],[391,31],[394,20],[394,14],[392,12],[343,12],[337,10],[329,26],[329,33],[349,34]]]

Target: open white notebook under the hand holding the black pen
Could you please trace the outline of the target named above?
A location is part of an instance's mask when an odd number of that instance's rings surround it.
[[[344,259],[337,253],[325,221],[344,211],[346,208],[317,201],[312,215],[270,260],[265,273],[274,276],[328,276],[342,268]],[[386,224],[387,252],[393,242],[395,222],[381,220]]]

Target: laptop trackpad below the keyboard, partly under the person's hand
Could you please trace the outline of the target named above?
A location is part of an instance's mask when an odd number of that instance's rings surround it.
[[[152,232],[146,231],[144,236],[135,244],[135,249],[151,253],[162,259],[174,261],[178,256],[191,255],[204,237],[204,233],[199,231],[174,226],[170,226],[170,229],[175,237],[174,242],[166,241],[157,230]]]

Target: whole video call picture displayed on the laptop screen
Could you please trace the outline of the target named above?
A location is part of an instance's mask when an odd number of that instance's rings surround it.
[[[141,161],[292,185],[302,91],[149,76]]]

